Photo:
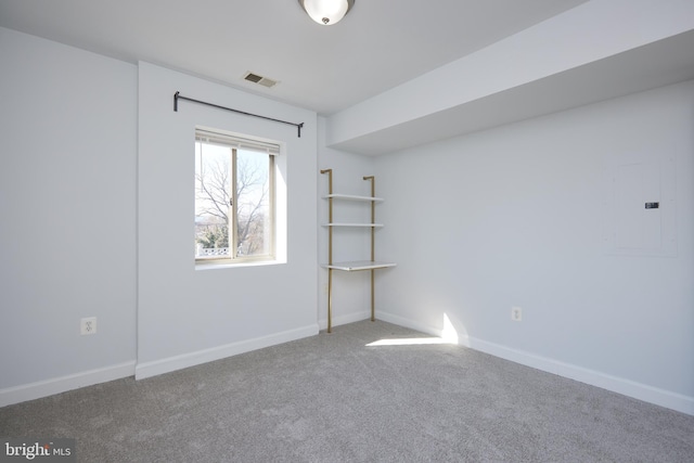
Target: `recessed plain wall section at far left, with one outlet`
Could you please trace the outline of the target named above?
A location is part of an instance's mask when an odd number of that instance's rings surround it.
[[[137,67],[4,28],[0,63],[2,406],[132,374]]]

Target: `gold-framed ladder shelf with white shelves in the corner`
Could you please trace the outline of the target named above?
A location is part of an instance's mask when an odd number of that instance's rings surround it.
[[[371,181],[371,196],[358,196],[354,194],[337,194],[333,193],[333,169],[323,169],[321,173],[327,173],[329,176],[329,193],[323,196],[323,200],[327,200],[329,204],[329,219],[327,223],[323,223],[323,227],[327,228],[327,263],[322,267],[327,269],[327,333],[332,332],[332,318],[333,318],[333,270],[338,271],[370,271],[371,272],[371,321],[375,320],[375,298],[374,298],[374,271],[378,269],[385,269],[395,267],[394,262],[383,262],[375,260],[375,230],[383,227],[383,223],[376,223],[376,203],[381,203],[384,200],[376,197],[375,195],[375,178],[373,176],[365,176],[363,180]],[[371,205],[371,222],[334,222],[333,221],[333,202],[337,201],[357,201],[365,202]],[[350,260],[344,262],[333,262],[333,229],[340,227],[355,227],[367,228],[371,230],[371,259],[370,260]]]

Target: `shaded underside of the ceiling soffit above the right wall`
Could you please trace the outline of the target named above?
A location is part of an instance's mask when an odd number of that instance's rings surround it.
[[[331,147],[375,156],[691,79],[694,29]]]

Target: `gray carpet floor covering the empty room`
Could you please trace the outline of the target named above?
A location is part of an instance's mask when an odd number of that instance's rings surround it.
[[[0,409],[80,462],[692,462],[694,416],[427,337],[332,334]]]

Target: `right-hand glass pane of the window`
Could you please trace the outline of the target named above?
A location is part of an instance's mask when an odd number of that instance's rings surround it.
[[[236,255],[271,254],[270,156],[236,151]]]

